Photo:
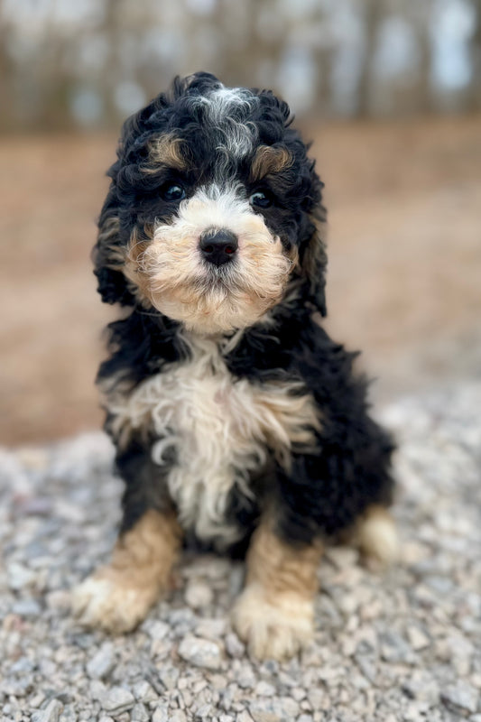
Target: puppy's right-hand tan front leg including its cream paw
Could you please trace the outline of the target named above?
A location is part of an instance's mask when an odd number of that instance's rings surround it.
[[[310,642],[321,552],[320,542],[282,542],[267,522],[254,532],[245,590],[232,613],[236,632],[254,657],[281,660]]]

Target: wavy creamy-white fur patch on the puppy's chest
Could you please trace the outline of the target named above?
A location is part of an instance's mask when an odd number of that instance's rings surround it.
[[[121,426],[153,427],[153,461],[165,463],[180,523],[200,539],[236,541],[225,512],[234,485],[245,495],[250,473],[262,467],[267,449],[288,467],[293,442],[310,446],[319,428],[314,403],[300,382],[251,384],[230,375],[217,343],[190,340],[189,361],[172,364],[147,379],[114,409]]]

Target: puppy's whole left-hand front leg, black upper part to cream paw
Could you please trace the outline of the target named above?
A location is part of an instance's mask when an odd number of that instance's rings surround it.
[[[110,562],[73,592],[72,608],[82,624],[116,634],[143,621],[170,585],[182,532],[169,496],[167,468],[153,464],[151,447],[131,440],[117,454],[124,478],[124,518]]]

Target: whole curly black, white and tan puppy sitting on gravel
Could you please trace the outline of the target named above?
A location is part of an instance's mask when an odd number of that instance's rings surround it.
[[[175,79],[124,126],[94,249],[125,307],[98,384],[125,481],[112,560],[74,593],[126,632],[183,544],[246,554],[232,622],[257,657],[313,634],[323,545],[396,550],[393,443],[326,314],[322,183],[272,92]]]

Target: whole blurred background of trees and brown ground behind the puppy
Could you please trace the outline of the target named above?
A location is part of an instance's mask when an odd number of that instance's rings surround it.
[[[102,421],[89,261],[125,118],[273,88],[326,182],[328,329],[376,403],[481,377],[481,0],[0,0],[0,442]]]

